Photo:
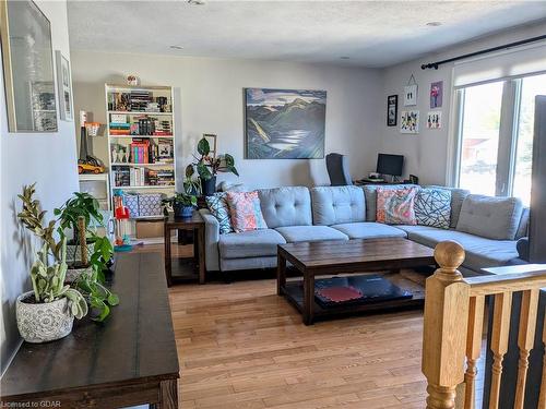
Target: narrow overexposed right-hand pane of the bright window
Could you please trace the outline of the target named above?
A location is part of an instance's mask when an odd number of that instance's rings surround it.
[[[518,123],[518,145],[512,194],[520,197],[526,205],[530,204],[531,200],[533,129],[535,96],[537,95],[546,95],[546,74],[524,77],[521,86],[520,120]]]

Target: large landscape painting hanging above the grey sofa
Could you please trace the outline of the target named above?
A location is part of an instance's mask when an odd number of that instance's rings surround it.
[[[327,92],[245,88],[247,159],[324,157]]]

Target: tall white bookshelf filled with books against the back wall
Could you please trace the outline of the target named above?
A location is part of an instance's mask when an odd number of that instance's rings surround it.
[[[157,97],[166,98],[166,107],[163,107],[162,111],[149,110],[142,108],[144,107],[144,103],[140,107],[135,107],[138,104],[131,104],[132,101],[138,101],[136,98],[123,99],[123,94],[133,93],[144,93],[150,94],[152,96],[153,103],[157,103]],[[108,135],[108,167],[109,167],[109,185],[110,185],[110,197],[114,196],[115,190],[122,190],[123,192],[131,193],[144,193],[144,192],[159,192],[166,193],[167,195],[173,195],[175,193],[176,187],[176,155],[175,155],[175,141],[176,141],[176,129],[175,129],[175,100],[173,87],[170,86],[130,86],[130,85],[116,85],[116,84],[105,84],[105,96],[106,96],[106,133]],[[123,104],[127,103],[127,104]],[[122,106],[122,109],[119,107]],[[146,107],[147,108],[147,107]],[[159,107],[162,108],[162,107]],[[114,121],[112,119],[117,116],[121,118],[124,117],[126,122]],[[151,122],[157,124],[161,121],[168,121],[170,123],[170,134],[140,134],[142,133],[142,129],[138,129],[136,125],[139,123],[139,119],[147,119]],[[126,132],[127,125],[129,124],[129,134],[119,134],[120,132]],[[116,130],[112,130],[115,128]],[[122,130],[120,130],[122,128]],[[146,131],[150,131],[147,129]],[[157,129],[156,129],[157,131]],[[139,134],[135,134],[135,133]],[[145,132],[151,133],[151,132]],[[150,153],[147,157],[147,161],[136,161],[131,156],[130,145],[134,140],[146,140],[152,146],[159,146],[159,140],[169,141],[171,144],[170,153],[171,158],[169,161],[161,161],[159,158],[153,158]],[[123,146],[126,147],[126,155],[123,155],[126,160],[120,161],[119,155],[115,154],[116,147]],[[157,148],[158,149],[158,148]],[[155,160],[155,161],[154,161]],[[134,171],[131,169],[135,169]],[[149,175],[152,172],[161,172],[162,170],[168,170],[173,172],[173,184],[164,185],[164,184],[150,184]],[[130,180],[130,185],[119,185],[119,178],[116,178],[116,175],[126,175],[124,179],[127,182],[127,172],[144,172],[144,184],[139,185],[140,183],[135,183],[135,180]],[[156,177],[157,178],[157,177]],[[131,178],[130,178],[131,179]],[[134,178],[135,179],[135,178]],[[151,217],[135,217],[138,219],[154,219]]]

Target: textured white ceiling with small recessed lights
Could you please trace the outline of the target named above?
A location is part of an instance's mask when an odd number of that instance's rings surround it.
[[[546,19],[546,1],[69,0],[68,11],[74,49],[387,67]]]

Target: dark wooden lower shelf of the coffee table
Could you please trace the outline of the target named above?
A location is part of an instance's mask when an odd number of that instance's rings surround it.
[[[313,298],[313,320],[320,321],[325,318],[341,317],[355,315],[356,313],[365,312],[385,312],[390,310],[416,309],[425,304],[425,288],[420,284],[407,278],[417,273],[393,273],[384,274],[383,277],[395,284],[396,286],[412,291],[413,298],[387,300],[378,302],[367,302],[361,304],[340,304],[336,306],[324,308],[319,304]],[[424,278],[423,278],[424,279]],[[300,314],[305,314],[304,310],[304,287],[302,279],[289,280],[282,287],[282,293],[286,300],[293,304]],[[306,324],[312,324],[312,322]]]

